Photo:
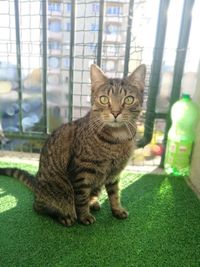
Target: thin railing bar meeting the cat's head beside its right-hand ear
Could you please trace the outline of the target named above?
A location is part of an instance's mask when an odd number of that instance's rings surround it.
[[[127,32],[126,32],[124,77],[128,75],[128,71],[129,71],[129,60],[130,60],[130,49],[131,49],[131,29],[132,29],[132,21],[133,21],[133,7],[134,7],[134,0],[130,0],[129,1],[128,22],[127,22]]]

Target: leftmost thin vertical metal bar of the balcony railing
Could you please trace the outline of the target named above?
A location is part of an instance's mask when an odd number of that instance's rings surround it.
[[[18,74],[18,103],[19,103],[19,131],[23,132],[22,127],[22,66],[21,66],[21,43],[20,43],[20,25],[19,25],[19,2],[15,0],[15,33],[16,33],[16,51],[17,51],[17,74]]]

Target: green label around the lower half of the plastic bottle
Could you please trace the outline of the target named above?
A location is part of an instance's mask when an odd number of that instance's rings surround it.
[[[168,139],[165,162],[179,170],[189,167],[192,143]]]

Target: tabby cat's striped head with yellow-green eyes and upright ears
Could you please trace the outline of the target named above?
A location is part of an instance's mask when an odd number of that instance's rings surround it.
[[[142,108],[146,66],[140,65],[123,79],[109,78],[91,66],[92,112],[111,127],[135,122]]]

